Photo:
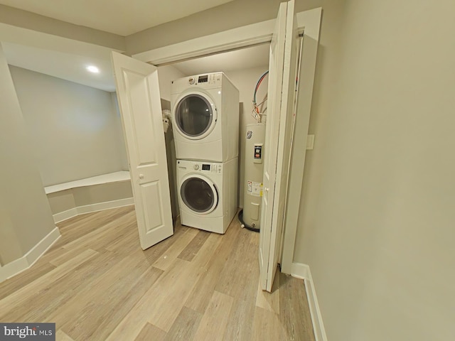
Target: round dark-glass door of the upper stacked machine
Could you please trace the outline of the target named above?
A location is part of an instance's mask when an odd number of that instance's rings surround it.
[[[186,139],[203,139],[215,128],[216,107],[206,94],[192,92],[178,100],[173,119],[177,131]]]

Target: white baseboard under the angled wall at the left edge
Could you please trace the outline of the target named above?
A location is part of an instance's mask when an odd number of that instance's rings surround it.
[[[5,266],[0,266],[0,282],[21,273],[35,264],[35,262],[38,261],[45,251],[48,251],[48,249],[57,241],[59,237],[60,231],[58,230],[58,227],[55,227],[21,258],[11,261]]]

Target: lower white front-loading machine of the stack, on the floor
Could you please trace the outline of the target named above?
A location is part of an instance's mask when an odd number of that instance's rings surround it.
[[[237,212],[237,158],[177,161],[181,224],[224,234]]]

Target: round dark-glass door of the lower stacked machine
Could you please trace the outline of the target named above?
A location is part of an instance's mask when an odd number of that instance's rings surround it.
[[[218,205],[215,185],[202,175],[188,175],[183,178],[180,195],[186,207],[200,214],[213,212]]]

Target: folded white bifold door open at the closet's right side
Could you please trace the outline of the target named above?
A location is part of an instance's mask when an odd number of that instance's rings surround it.
[[[260,281],[262,290],[267,291],[272,291],[282,243],[291,127],[295,117],[298,40],[294,0],[291,0],[279,6],[270,43],[264,188],[259,232]]]

